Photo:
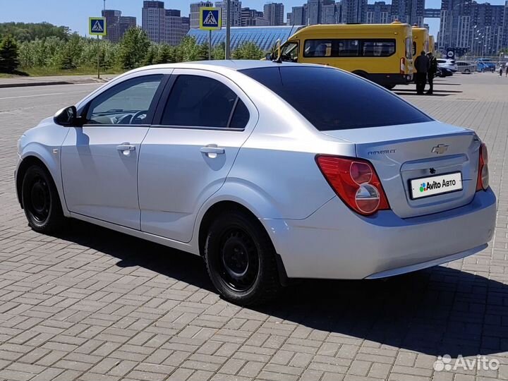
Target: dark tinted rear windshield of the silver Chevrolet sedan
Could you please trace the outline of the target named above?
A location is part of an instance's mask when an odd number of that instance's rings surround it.
[[[319,131],[432,120],[391,92],[333,68],[274,66],[241,72],[282,97]]]

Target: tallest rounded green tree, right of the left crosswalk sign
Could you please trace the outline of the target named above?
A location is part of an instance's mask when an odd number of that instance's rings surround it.
[[[148,35],[141,28],[131,28],[125,32],[119,47],[119,64],[124,69],[137,68],[150,49]]]

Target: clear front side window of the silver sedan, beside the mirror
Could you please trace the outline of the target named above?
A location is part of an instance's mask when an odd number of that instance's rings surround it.
[[[89,124],[145,124],[150,105],[163,75],[145,75],[125,80],[90,102]]]

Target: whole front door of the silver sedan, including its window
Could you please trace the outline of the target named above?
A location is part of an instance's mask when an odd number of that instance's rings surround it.
[[[140,229],[139,151],[166,80],[133,73],[83,105],[87,124],[70,128],[61,147],[68,210]]]

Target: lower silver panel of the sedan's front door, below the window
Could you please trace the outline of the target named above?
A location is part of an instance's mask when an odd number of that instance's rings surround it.
[[[147,131],[140,126],[71,128],[61,147],[68,210],[140,229],[137,167]]]

